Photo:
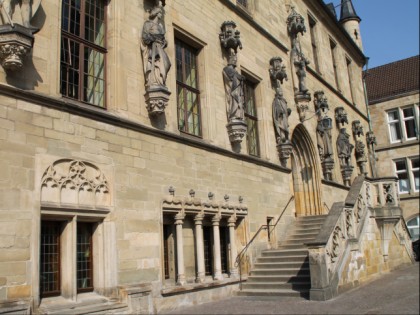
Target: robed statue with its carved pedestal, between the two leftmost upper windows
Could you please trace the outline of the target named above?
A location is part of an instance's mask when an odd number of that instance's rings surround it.
[[[165,52],[165,26],[162,23],[163,6],[157,5],[149,12],[143,25],[141,51],[146,86],[146,107],[150,115],[161,114],[168,105],[171,94],[166,87],[166,77],[171,62]]]

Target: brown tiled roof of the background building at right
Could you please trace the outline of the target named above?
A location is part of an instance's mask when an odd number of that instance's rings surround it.
[[[366,90],[369,104],[419,90],[420,56],[398,60],[368,70]]]

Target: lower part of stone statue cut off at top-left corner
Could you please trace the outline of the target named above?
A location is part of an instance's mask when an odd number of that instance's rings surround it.
[[[38,2],[37,6],[39,6],[39,2],[41,1],[39,0],[34,2]],[[16,6],[17,4],[19,4],[19,6]],[[20,22],[19,18],[21,18],[21,24],[24,27],[29,28],[31,31],[38,30],[30,23],[33,13],[31,0],[0,0],[0,7],[3,24],[11,24],[13,26],[15,22]],[[20,17],[16,18],[14,15],[17,11],[19,11],[18,8],[20,9]]]

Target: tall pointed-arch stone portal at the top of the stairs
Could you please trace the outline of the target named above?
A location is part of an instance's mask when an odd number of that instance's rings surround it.
[[[300,124],[292,135],[292,175],[296,216],[320,215],[321,180],[315,148],[306,128]]]

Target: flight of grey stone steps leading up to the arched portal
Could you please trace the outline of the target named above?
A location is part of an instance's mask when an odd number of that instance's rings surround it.
[[[311,276],[308,250],[304,243],[318,235],[326,215],[296,219],[294,227],[278,249],[265,250],[257,258],[248,280],[238,295],[309,297]]]

